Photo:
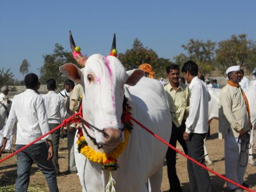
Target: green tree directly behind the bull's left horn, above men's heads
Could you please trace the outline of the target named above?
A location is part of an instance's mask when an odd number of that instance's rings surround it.
[[[39,69],[41,83],[46,83],[50,78],[54,78],[57,82],[63,82],[67,77],[60,76],[59,67],[65,63],[76,64],[72,54],[65,51],[59,44],[55,44],[52,54],[46,54],[42,57],[44,58],[44,65]]]

